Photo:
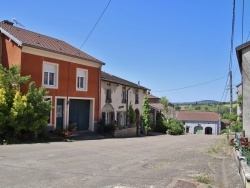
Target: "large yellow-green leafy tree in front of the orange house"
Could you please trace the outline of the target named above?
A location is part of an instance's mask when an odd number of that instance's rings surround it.
[[[47,94],[44,87],[36,89],[34,82],[29,84],[26,94],[20,87],[30,76],[21,76],[20,67],[6,69],[0,65],[0,137],[2,139],[23,139],[26,133],[34,135],[47,125],[52,108],[44,101]]]

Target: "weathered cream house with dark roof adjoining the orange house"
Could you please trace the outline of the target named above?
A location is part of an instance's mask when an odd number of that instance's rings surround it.
[[[141,124],[143,98],[147,88],[117,76],[101,72],[101,119],[108,124],[127,125],[131,104],[136,113],[136,126]]]

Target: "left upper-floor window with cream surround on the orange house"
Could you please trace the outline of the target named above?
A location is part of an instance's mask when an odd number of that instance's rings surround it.
[[[58,64],[43,63],[43,85],[47,88],[57,88]]]

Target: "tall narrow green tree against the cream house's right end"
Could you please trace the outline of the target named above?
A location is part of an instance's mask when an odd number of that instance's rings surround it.
[[[149,135],[151,131],[151,120],[150,120],[150,107],[148,104],[148,97],[146,95],[143,98],[142,120],[143,120],[143,125],[147,130],[147,134]]]

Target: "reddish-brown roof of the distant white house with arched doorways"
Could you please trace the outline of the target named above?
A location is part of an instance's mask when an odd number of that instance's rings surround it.
[[[215,112],[178,111],[177,118],[182,121],[219,121],[220,115]]]

